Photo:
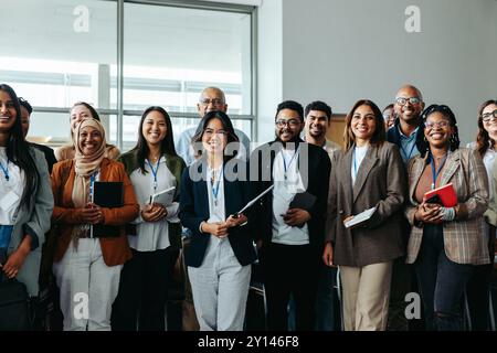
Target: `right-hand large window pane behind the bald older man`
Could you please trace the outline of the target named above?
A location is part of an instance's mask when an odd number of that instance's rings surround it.
[[[229,114],[251,114],[251,14],[125,3],[124,106],[197,111],[219,86]]]

